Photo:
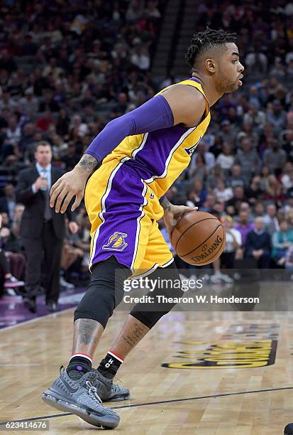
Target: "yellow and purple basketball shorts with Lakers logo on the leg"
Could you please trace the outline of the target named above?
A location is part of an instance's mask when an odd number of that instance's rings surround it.
[[[164,210],[153,190],[118,160],[101,165],[84,195],[91,229],[89,268],[114,255],[134,275],[173,261],[157,220]]]

